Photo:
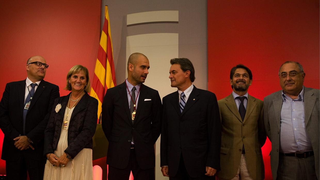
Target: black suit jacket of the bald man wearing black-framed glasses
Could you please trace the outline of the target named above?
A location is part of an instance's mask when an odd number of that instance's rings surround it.
[[[18,160],[20,156],[42,160],[44,146],[44,129],[47,126],[53,101],[59,97],[59,87],[42,80],[32,98],[26,116],[26,136],[33,141],[33,147],[20,151],[13,139],[22,135],[22,117],[26,80],[10,82],[0,102],[0,128],[4,133],[2,146],[3,160]]]

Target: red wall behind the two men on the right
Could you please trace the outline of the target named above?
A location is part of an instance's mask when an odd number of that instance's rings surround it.
[[[298,61],[304,85],[319,89],[319,1],[208,1],[208,89],[218,99],[228,96],[230,69],[252,70],[249,94],[263,98],[280,90],[278,71],[287,60]],[[263,146],[266,179],[270,141]]]

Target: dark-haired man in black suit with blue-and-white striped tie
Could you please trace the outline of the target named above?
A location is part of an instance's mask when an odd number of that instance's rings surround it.
[[[216,96],[197,89],[189,59],[171,59],[171,87],[165,96],[161,130],[161,171],[175,180],[213,179],[220,170],[221,124]]]

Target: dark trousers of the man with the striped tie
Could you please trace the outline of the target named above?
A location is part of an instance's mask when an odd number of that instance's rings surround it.
[[[169,172],[170,172],[170,167],[169,167]],[[204,167],[204,173],[203,176],[201,177],[190,177],[188,175],[186,166],[184,165],[184,160],[182,157],[182,154],[180,155],[180,162],[179,162],[179,168],[178,172],[175,176],[169,177],[169,180],[214,180],[214,176],[206,176],[205,174],[205,167]]]

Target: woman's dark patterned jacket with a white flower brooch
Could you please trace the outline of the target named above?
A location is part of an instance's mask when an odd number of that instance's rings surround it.
[[[51,116],[44,131],[44,155],[57,149],[64,113],[70,94],[54,101]],[[60,104],[58,113],[56,106]],[[68,147],[64,151],[74,158],[83,148],[92,149],[92,137],[96,131],[98,119],[98,100],[85,93],[74,108],[68,128]]]

